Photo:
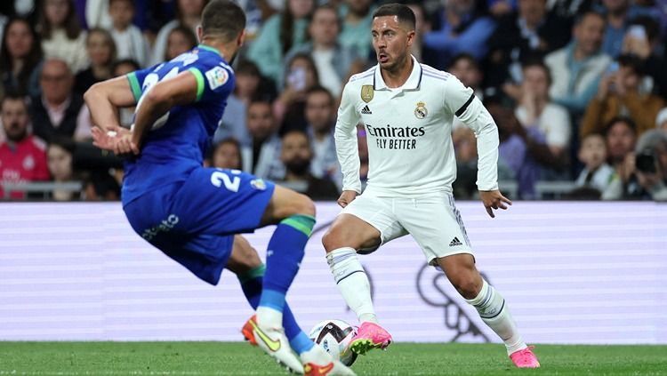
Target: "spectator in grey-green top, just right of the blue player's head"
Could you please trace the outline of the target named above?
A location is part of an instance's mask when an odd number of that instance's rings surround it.
[[[281,83],[285,54],[301,47],[308,39],[309,16],[314,0],[287,0],[286,5],[285,11],[264,22],[247,55],[260,68],[261,74],[275,83]]]

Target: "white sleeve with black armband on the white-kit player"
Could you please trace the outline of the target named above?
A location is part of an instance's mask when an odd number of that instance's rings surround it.
[[[493,117],[475,96],[472,89],[451,76],[446,81],[446,106],[454,116],[470,127],[477,137],[477,187],[488,191],[498,189],[498,127]]]

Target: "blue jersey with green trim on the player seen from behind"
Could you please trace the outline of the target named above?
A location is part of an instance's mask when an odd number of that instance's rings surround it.
[[[234,71],[220,53],[200,44],[171,61],[130,73],[127,78],[139,109],[155,84],[185,71],[197,78],[197,99],[175,106],[160,117],[143,140],[141,154],[125,163],[124,204],[152,189],[184,181],[189,172],[202,166],[235,84]]]

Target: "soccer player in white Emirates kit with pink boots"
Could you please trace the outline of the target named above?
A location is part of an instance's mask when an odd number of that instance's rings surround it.
[[[374,12],[378,64],[350,77],[335,129],[343,173],[341,214],[322,239],[342,296],[361,326],[351,350],[365,354],[391,342],[375,316],[370,284],[357,252],[411,234],[431,265],[442,268],[456,290],[504,341],[518,367],[539,367],[521,339],[505,300],[475,268],[470,240],[454,206],[456,178],[452,121],[457,116],[477,136],[478,190],[486,212],[507,209],[497,183],[498,130],[493,118],[456,77],[420,64],[409,53],[414,13],[385,4]],[[357,124],[366,127],[369,171],[361,193]]]

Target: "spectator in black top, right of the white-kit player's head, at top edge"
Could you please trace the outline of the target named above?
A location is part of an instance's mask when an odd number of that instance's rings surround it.
[[[569,23],[556,14],[548,14],[546,6],[547,0],[518,0],[518,12],[498,20],[498,27],[488,40],[486,85],[520,84],[523,64],[542,60],[569,42]]]

